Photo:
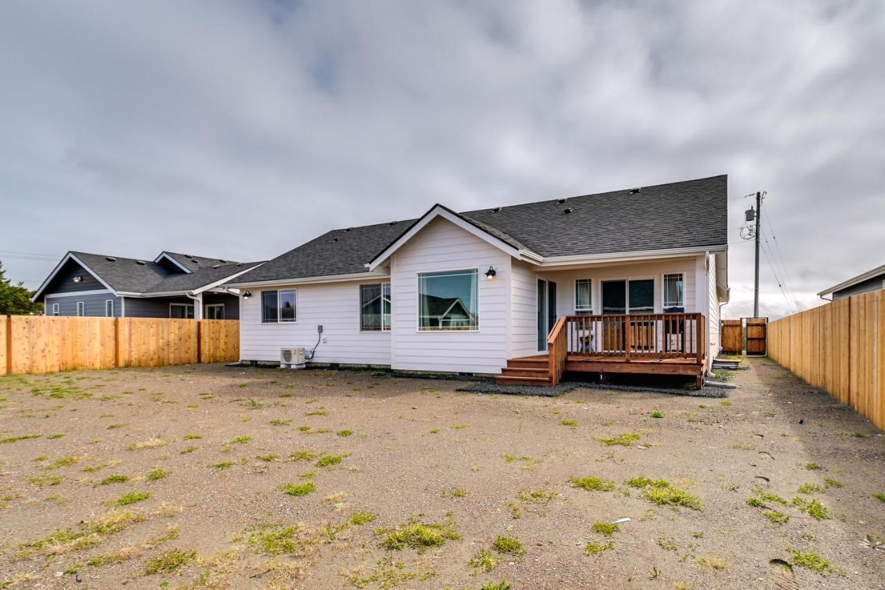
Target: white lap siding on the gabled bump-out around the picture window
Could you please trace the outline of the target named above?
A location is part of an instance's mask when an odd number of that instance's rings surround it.
[[[496,280],[485,272],[495,267]],[[496,247],[437,219],[393,255],[392,365],[394,369],[499,373],[507,362],[511,258]],[[418,274],[476,268],[479,271],[477,331],[419,332]]]

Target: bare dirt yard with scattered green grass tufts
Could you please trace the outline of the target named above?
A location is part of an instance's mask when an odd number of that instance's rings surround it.
[[[0,377],[0,588],[885,586],[881,431],[750,365],[728,400]]]

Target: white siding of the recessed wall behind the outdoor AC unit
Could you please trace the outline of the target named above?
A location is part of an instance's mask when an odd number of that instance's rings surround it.
[[[359,330],[359,285],[368,283],[373,282],[280,287],[297,291],[296,323],[262,323],[261,291],[253,290],[250,299],[241,299],[241,359],[279,361],[280,349],[288,346],[311,350],[322,324],[326,341],[319,343],[313,362],[389,365],[390,332]]]

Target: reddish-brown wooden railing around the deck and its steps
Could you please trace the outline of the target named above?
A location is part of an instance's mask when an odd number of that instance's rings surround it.
[[[625,362],[704,359],[704,314],[563,315],[547,338],[550,383],[558,384],[569,355],[617,356]]]

